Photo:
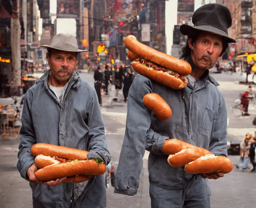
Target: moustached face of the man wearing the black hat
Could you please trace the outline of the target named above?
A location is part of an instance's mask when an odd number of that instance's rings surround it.
[[[189,39],[191,58],[201,69],[210,69],[219,58],[222,51],[222,37],[208,32],[201,32],[195,43]]]

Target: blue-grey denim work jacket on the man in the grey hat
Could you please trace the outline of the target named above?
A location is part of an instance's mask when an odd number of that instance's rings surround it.
[[[25,95],[17,163],[20,175],[25,179],[28,168],[35,161],[30,149],[36,143],[87,150],[88,158],[99,158],[106,164],[111,160],[95,89],[74,70],[63,98],[58,102],[48,86],[49,73],[47,71],[37,80]],[[95,176],[87,183],[78,183],[75,189],[73,185],[73,182],[54,187],[38,184],[35,188],[30,183],[33,207],[106,207],[103,175]],[[72,189],[80,192],[80,196],[71,203]]]

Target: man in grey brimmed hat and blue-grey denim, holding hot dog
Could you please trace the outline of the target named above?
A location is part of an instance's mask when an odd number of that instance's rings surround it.
[[[50,69],[25,95],[17,168],[30,182],[33,207],[106,207],[103,175],[82,183],[35,178],[30,149],[36,143],[87,150],[89,160],[106,164],[111,160],[95,89],[74,70],[78,53],[87,50],[78,49],[74,36],[61,33],[42,47]]]

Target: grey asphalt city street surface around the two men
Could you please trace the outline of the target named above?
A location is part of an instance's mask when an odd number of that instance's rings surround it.
[[[240,93],[247,90],[248,85],[238,84],[238,81],[245,79],[240,72],[234,74],[215,74],[214,69],[211,75],[219,81],[219,89],[222,91],[228,109],[228,141],[242,140],[247,132],[254,135],[256,130],[252,125],[252,120],[256,116],[256,106],[250,104],[249,113],[251,116],[237,118],[232,113],[234,100]],[[93,75],[80,73],[80,77],[89,81],[93,85]],[[252,91],[256,92],[256,86],[252,85]],[[122,92],[120,92],[122,95]],[[121,96],[122,98],[122,96]],[[119,154],[124,138],[127,104],[121,99],[120,103],[113,103],[109,107],[109,96],[102,95],[102,115],[105,121],[105,132],[109,143],[112,162],[116,170],[119,161]],[[20,102],[20,101],[19,101]],[[0,105],[13,103],[12,98],[0,98]],[[25,208],[32,207],[32,195],[29,183],[21,178],[16,168],[17,151],[19,138],[11,136],[0,136],[0,207],[3,208]],[[150,207],[150,197],[148,193],[148,152],[145,152],[143,168],[140,176],[140,186],[135,196],[114,194],[114,188],[107,189],[108,207]],[[239,160],[238,155],[230,155],[233,165]],[[255,176],[256,173],[240,172],[234,166],[233,171],[218,180],[209,180],[211,187],[211,207],[212,208],[243,208],[255,205]]]

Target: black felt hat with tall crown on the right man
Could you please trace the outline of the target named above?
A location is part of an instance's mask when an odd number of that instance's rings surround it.
[[[232,24],[232,17],[228,7],[221,4],[205,4],[199,7],[192,16],[194,26],[181,25],[179,30],[183,35],[188,35],[191,29],[207,31],[225,37],[228,43],[236,40],[228,37],[228,28]]]

